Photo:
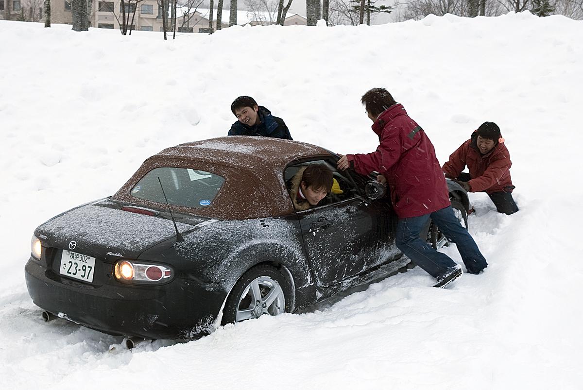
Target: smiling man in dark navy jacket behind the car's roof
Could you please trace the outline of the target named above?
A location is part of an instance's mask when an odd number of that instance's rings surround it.
[[[229,135],[292,139],[282,118],[274,117],[267,108],[258,106],[252,97],[237,97],[231,104],[231,111],[237,117],[237,122],[231,126]]]

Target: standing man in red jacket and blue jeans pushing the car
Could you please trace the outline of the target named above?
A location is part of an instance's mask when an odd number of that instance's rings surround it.
[[[430,217],[445,237],[455,242],[468,272],[482,272],[486,259],[454,215],[444,175],[426,133],[383,88],[371,89],[361,101],[374,122],[380,145],[372,153],[346,154],[338,160],[338,168],[354,168],[363,175],[377,171],[378,180],[387,181],[399,217],[396,245],[413,263],[437,278],[434,287],[447,286],[462,275],[462,270],[419,237]]]

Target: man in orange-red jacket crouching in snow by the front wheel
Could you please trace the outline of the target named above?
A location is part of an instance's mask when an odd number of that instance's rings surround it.
[[[466,191],[486,192],[499,213],[510,215],[518,206],[512,198],[512,161],[503,141],[498,125],[484,122],[449,156],[442,169],[445,177],[458,181]],[[469,173],[462,173],[466,165]]]

